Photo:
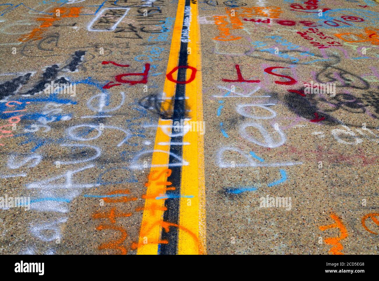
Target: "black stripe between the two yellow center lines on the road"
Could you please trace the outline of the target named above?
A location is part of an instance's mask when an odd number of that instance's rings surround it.
[[[190,0],[185,1],[185,6],[189,7]],[[183,27],[185,21],[189,20],[190,13],[184,13],[183,17]],[[180,42],[180,52],[179,52],[179,66],[187,65],[187,42]],[[182,67],[178,69],[178,78],[177,81],[186,81],[186,68]],[[172,114],[172,123],[179,121],[180,119],[185,118],[185,88],[186,84],[176,84],[175,99],[174,99],[174,112]],[[172,134],[170,142],[183,142],[182,134],[174,131],[172,128]],[[177,136],[175,136],[177,134]],[[172,183],[172,186],[175,187],[175,190],[167,190],[166,194],[169,198],[164,201],[164,206],[167,208],[163,212],[163,221],[168,223],[179,224],[179,206],[180,206],[180,186],[182,179],[182,167],[180,165],[174,165],[170,167],[170,164],[178,164],[178,160],[175,159],[172,155],[177,155],[182,158],[183,147],[182,145],[171,145],[170,146],[170,156],[169,156],[169,168],[171,169],[171,175],[168,177],[167,181]],[[166,232],[165,229],[161,230],[161,240],[167,240],[168,244],[160,244],[160,251],[158,254],[177,254],[178,252],[178,238],[179,238],[179,229],[174,226],[169,226],[169,231]]]

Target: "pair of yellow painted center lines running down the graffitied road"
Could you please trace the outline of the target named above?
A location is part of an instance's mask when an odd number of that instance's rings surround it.
[[[196,2],[191,2],[190,7],[192,19],[189,26],[190,42],[188,42],[187,65],[195,67],[197,72],[195,79],[186,84],[186,108],[190,109],[188,114],[190,121],[203,122],[200,28],[197,22]],[[185,0],[179,0],[166,74],[179,62],[184,10]],[[191,70],[187,70],[187,80],[190,75]],[[171,101],[175,96],[175,89],[176,83],[166,78],[163,95],[165,101],[161,105],[162,111],[173,111]],[[156,199],[156,197],[165,194],[166,189],[171,187],[168,184],[162,184],[167,181],[167,169],[170,168],[171,131],[172,120],[159,119],[137,254],[157,254],[158,244],[165,243],[160,240],[161,231],[169,231],[170,222],[163,222],[164,199]],[[176,246],[178,254],[205,254],[204,140],[202,134],[188,131],[183,136],[182,157],[185,164],[182,166],[180,194],[182,196],[193,195],[193,197],[180,198],[179,222],[177,226],[171,225],[171,228],[177,227],[179,230],[178,245]]]

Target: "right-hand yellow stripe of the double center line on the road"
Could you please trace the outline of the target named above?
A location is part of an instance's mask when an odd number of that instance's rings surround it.
[[[197,4],[191,2],[192,20],[190,25],[187,64],[196,67],[196,77],[186,84],[186,108],[189,108],[190,120],[198,124],[203,122],[202,75],[200,29],[197,22]],[[189,53],[189,52],[187,52]],[[187,71],[187,80],[191,71]],[[199,123],[200,125],[200,123]],[[191,128],[191,127],[190,127]],[[194,126],[192,127],[194,128]],[[204,126],[200,128],[204,129]],[[199,129],[199,126],[196,126]],[[205,184],[204,184],[204,140],[203,132],[188,131],[183,136],[183,159],[189,162],[182,167],[181,195],[193,195],[193,198],[180,199],[179,245],[178,254],[205,254]],[[195,238],[196,237],[196,238]]]

